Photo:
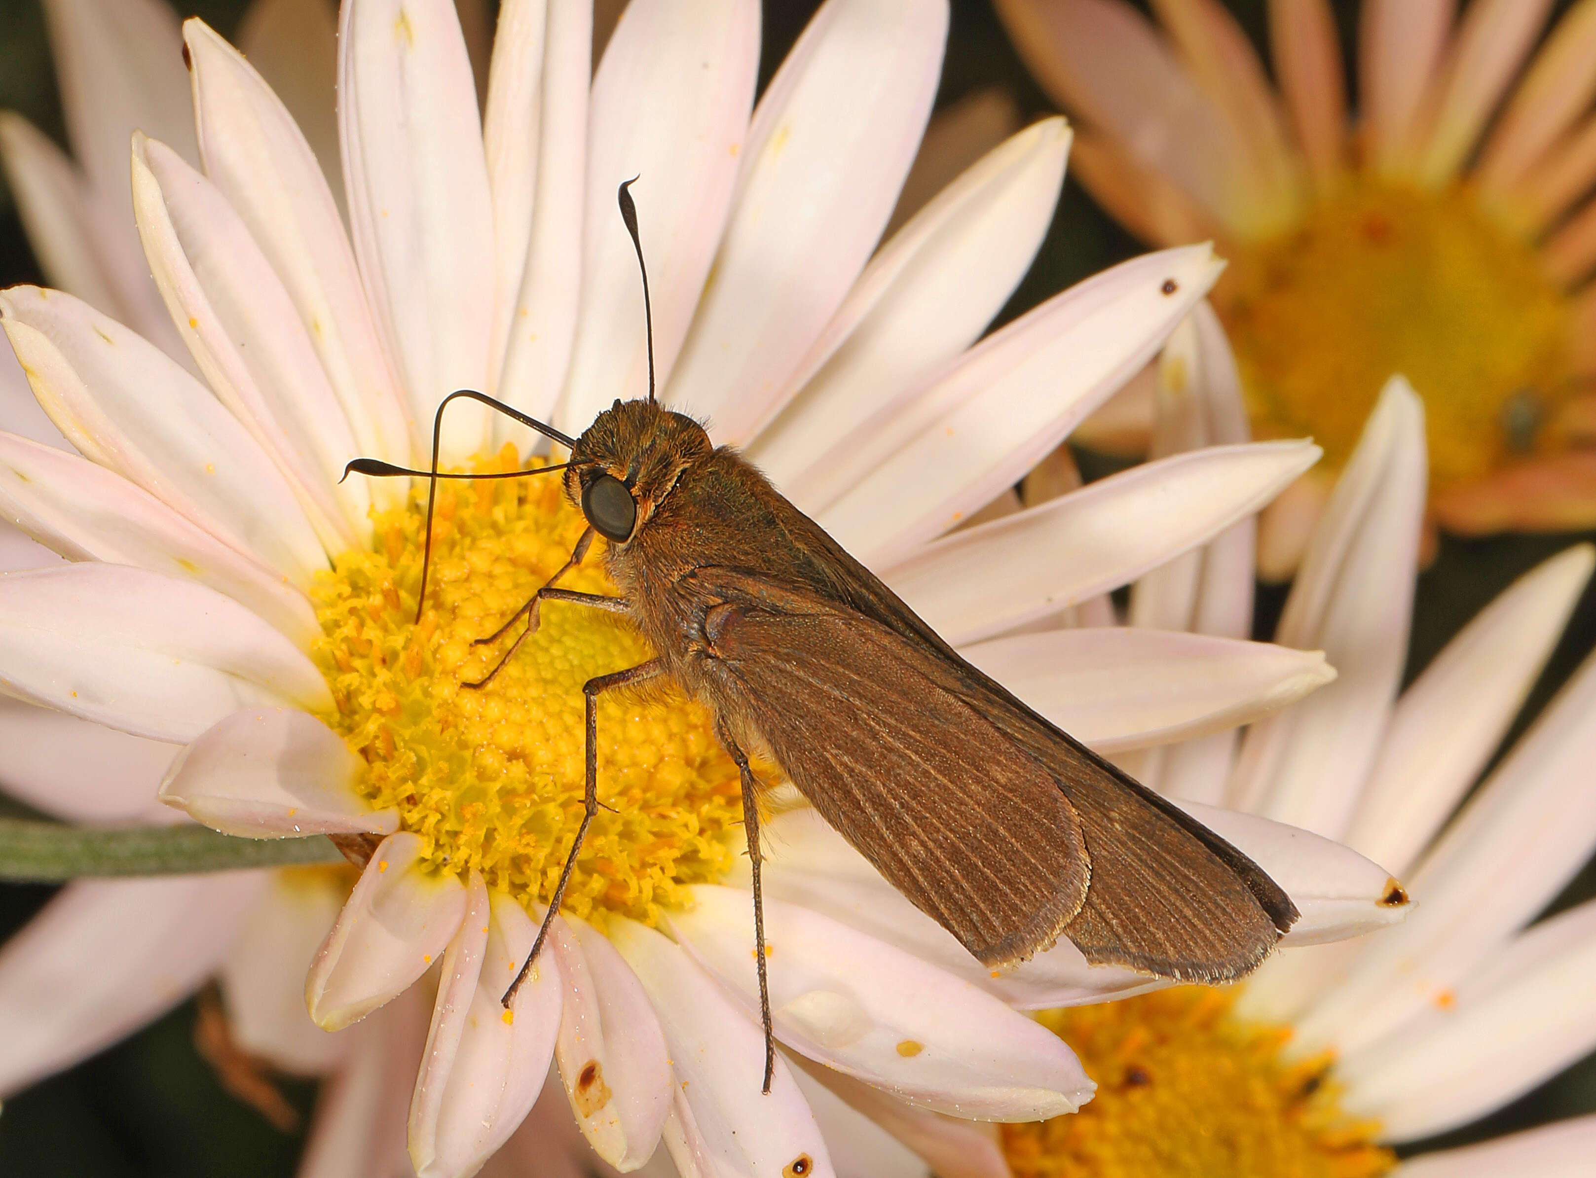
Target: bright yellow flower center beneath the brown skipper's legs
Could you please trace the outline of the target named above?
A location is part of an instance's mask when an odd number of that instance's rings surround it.
[[[514,450],[476,469],[514,469]],[[584,522],[557,476],[439,484],[426,611],[415,624],[426,492],[375,512],[372,551],[340,555],[313,599],[329,723],[369,765],[361,789],[421,836],[428,862],[522,902],[547,902],[583,817],[583,683],[653,656],[619,616],[546,602],[541,626],[482,680],[523,626],[503,626],[570,557]],[[602,544],[603,541],[598,541]],[[602,547],[560,579],[616,595]],[[709,714],[674,688],[598,698],[598,801],[565,908],[654,923],[720,878],[741,827],[737,768]]]

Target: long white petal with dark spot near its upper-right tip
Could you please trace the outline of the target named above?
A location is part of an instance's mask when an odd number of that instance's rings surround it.
[[[792,487],[867,562],[946,532],[1058,445],[1219,278],[1208,246],[1132,259],[994,332],[883,407]]]

